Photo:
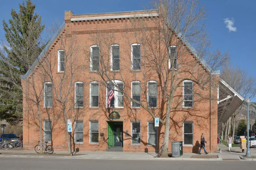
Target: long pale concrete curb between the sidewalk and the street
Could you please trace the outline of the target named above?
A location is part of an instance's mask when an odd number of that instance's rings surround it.
[[[55,158],[55,159],[96,159],[96,160],[169,160],[169,161],[175,161],[175,160],[192,160],[192,161],[219,161],[222,160],[220,158],[114,158],[114,157],[79,157],[79,156],[36,156],[36,155],[0,155],[1,157],[16,157],[16,158]]]

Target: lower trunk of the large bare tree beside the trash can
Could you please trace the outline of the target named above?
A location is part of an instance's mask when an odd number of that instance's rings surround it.
[[[172,97],[170,97],[172,98]],[[166,117],[165,117],[165,129],[164,129],[164,148],[161,157],[168,158],[168,145],[169,145],[169,133],[170,133],[170,115],[171,115],[171,103],[172,99],[167,101]]]

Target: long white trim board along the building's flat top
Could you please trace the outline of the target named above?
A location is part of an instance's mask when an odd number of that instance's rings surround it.
[[[135,17],[156,17],[155,14],[137,14],[137,15],[118,15],[118,16],[106,16],[106,17],[89,17],[89,18],[70,18],[71,21],[86,21],[86,20],[98,20],[98,19],[117,19],[117,18],[135,18]]]

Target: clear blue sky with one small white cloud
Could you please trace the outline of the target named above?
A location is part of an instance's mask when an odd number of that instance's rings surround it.
[[[1,3],[0,20],[8,20],[11,9],[19,10],[23,0],[9,0]],[[143,10],[150,0],[32,0],[36,4],[36,13],[42,16],[42,22],[51,25],[56,19],[64,20],[64,11],[81,13],[101,13],[116,11]],[[234,65],[246,69],[256,77],[256,59],[254,45],[256,39],[255,0],[203,0],[200,5],[208,11],[206,20],[210,34],[211,48],[229,51]],[[225,20],[226,19],[226,20]],[[233,24],[233,25],[232,25]],[[228,25],[228,28],[226,27]],[[0,39],[4,40],[4,31],[0,25]],[[256,97],[251,100],[256,102]]]

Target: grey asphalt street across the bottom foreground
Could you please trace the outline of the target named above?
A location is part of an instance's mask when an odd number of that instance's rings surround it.
[[[1,170],[241,170],[255,169],[256,162],[247,161],[140,161],[88,160],[48,158],[0,159]]]

